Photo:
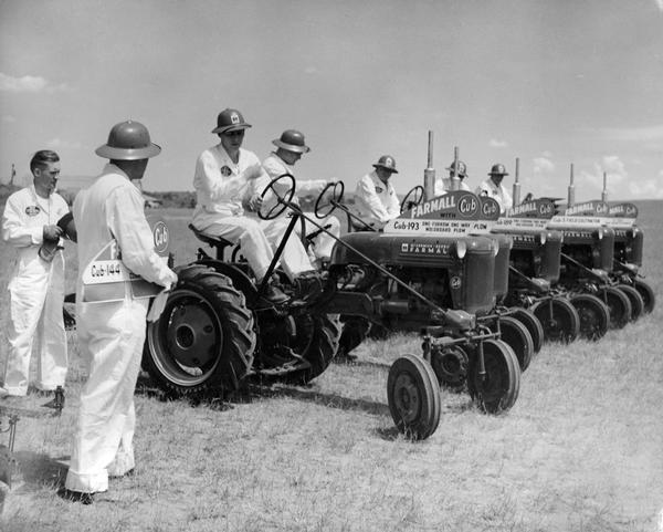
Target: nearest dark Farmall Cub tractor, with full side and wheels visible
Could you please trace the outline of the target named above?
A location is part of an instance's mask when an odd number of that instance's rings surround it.
[[[263,197],[274,194],[277,205],[260,216],[270,219],[290,210],[284,241],[302,218],[327,232],[293,202],[294,185],[291,175],[274,179]],[[334,206],[341,199],[343,184],[336,184],[332,192],[329,205]],[[463,213],[471,221],[478,204],[473,195],[469,199],[474,202]],[[161,316],[147,326],[146,369],[161,389],[180,397],[234,390],[250,376],[307,383],[334,357],[343,313],[380,324],[409,323],[424,333],[422,355],[398,358],[387,383],[393,420],[409,437],[427,438],[439,424],[440,389],[431,363],[449,351],[465,353],[467,387],[480,408],[487,413],[509,409],[520,377],[514,352],[497,334],[478,327],[472,313],[443,306],[449,296],[466,298],[476,309],[492,304],[494,244],[485,237],[424,234],[424,227],[448,226],[441,215],[451,206],[438,207],[422,219],[394,220],[394,226],[403,226],[393,234],[343,237],[328,271],[295,283],[280,275],[291,299],[277,305],[262,296],[265,285],[255,282],[245,262],[219,259],[229,242],[197,232],[217,254],[200,249],[194,262],[177,268],[178,283]],[[407,232],[417,226],[419,233]],[[276,263],[282,251],[283,242],[265,279],[280,273]],[[429,275],[414,280],[399,277],[422,260],[431,264],[445,260],[449,272],[442,279],[434,279],[430,270]]]

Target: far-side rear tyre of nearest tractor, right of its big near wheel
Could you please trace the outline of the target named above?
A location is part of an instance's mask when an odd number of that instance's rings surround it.
[[[340,338],[338,314],[299,314],[260,323],[261,377],[307,384],[336,356]]]

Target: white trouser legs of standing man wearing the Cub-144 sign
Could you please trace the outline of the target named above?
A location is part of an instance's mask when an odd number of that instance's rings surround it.
[[[77,303],[81,354],[90,375],[81,407],[65,487],[94,493],[108,489],[108,477],[134,468],[134,392],[148,300]]]

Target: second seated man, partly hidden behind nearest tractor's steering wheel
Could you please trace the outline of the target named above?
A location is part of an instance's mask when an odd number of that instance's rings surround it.
[[[272,152],[262,164],[263,168],[270,176],[270,179],[275,179],[283,174],[290,174],[294,176],[293,167],[297,160],[302,158],[303,154],[307,154],[311,150],[311,148],[306,146],[304,135],[295,129],[284,131],[281,134],[281,138],[275,138],[272,140],[272,144],[276,146],[276,152]],[[285,185],[290,185],[290,180],[287,179],[284,179],[283,182]],[[325,179],[298,179],[296,180],[295,198],[301,196],[318,196],[327,186],[327,182],[328,181]],[[263,184],[261,182],[261,185]],[[267,209],[266,206],[263,206],[262,208],[263,210]],[[281,213],[274,221],[276,220],[278,220],[278,222],[276,222],[275,226],[277,223],[283,223],[284,221],[287,226],[287,222],[290,222],[287,212],[284,211]],[[327,216],[324,219],[318,220],[318,222],[320,226],[326,227],[332,234],[336,237],[340,234],[340,223],[338,222],[338,218],[335,216]],[[334,248],[336,240],[326,232],[319,231],[316,226],[308,222],[305,222],[304,230],[306,231],[306,234],[317,232],[311,242],[312,246],[308,251],[309,257],[312,255],[312,259],[318,264],[329,262],[332,249]],[[295,226],[295,231],[297,236],[302,238],[301,223]],[[267,239],[270,239],[269,232],[270,229],[265,229]]]

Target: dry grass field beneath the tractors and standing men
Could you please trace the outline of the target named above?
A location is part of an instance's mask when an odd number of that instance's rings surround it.
[[[663,204],[639,206],[643,271],[661,298]],[[188,262],[189,211],[162,215],[176,263]],[[13,252],[0,253],[4,294]],[[367,342],[358,364],[332,365],[308,387],[250,388],[230,403],[164,401],[141,382],[135,474],[90,507],[56,497],[85,377],[71,333],[66,406],[52,417],[44,398],[25,399],[0,530],[661,531],[662,305],[598,343],[546,344],[504,416],[443,392],[440,427],[418,444],[393,428],[386,393],[390,362],[419,353],[417,336]]]

